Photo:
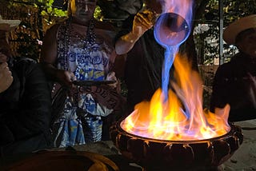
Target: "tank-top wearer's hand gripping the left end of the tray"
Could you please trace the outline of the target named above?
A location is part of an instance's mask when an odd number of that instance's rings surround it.
[[[71,87],[73,85],[73,81],[76,80],[77,78],[74,76],[74,73],[67,71],[67,70],[58,70],[57,72],[57,78],[58,81],[62,85],[66,85]]]

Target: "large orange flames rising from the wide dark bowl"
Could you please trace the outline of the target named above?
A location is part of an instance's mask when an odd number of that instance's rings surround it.
[[[222,136],[230,131],[230,105],[218,113],[202,109],[202,80],[181,56],[174,60],[174,80],[168,99],[158,89],[151,101],[142,101],[121,122],[128,133],[167,141],[195,141]]]

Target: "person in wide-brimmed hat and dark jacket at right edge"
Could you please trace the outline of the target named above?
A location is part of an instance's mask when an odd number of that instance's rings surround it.
[[[238,47],[230,62],[214,76],[210,109],[230,105],[229,121],[256,118],[256,14],[238,19],[223,33],[226,43]]]

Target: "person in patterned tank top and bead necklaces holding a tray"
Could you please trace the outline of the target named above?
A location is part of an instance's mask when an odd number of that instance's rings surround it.
[[[75,80],[117,80],[110,72],[116,58],[114,29],[94,20],[95,7],[96,0],[70,0],[70,17],[47,30],[43,40],[40,61],[46,74],[68,88],[64,109],[54,121],[54,145],[58,147],[102,140],[102,117],[122,102],[116,83],[80,88],[73,84]]]

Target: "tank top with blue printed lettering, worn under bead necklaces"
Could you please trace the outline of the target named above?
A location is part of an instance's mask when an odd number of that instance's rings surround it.
[[[85,27],[86,29],[86,27]],[[86,38],[74,31],[66,20],[58,29],[58,69],[74,72],[77,80],[104,80],[109,71],[113,46],[94,33],[94,22],[86,31]]]

